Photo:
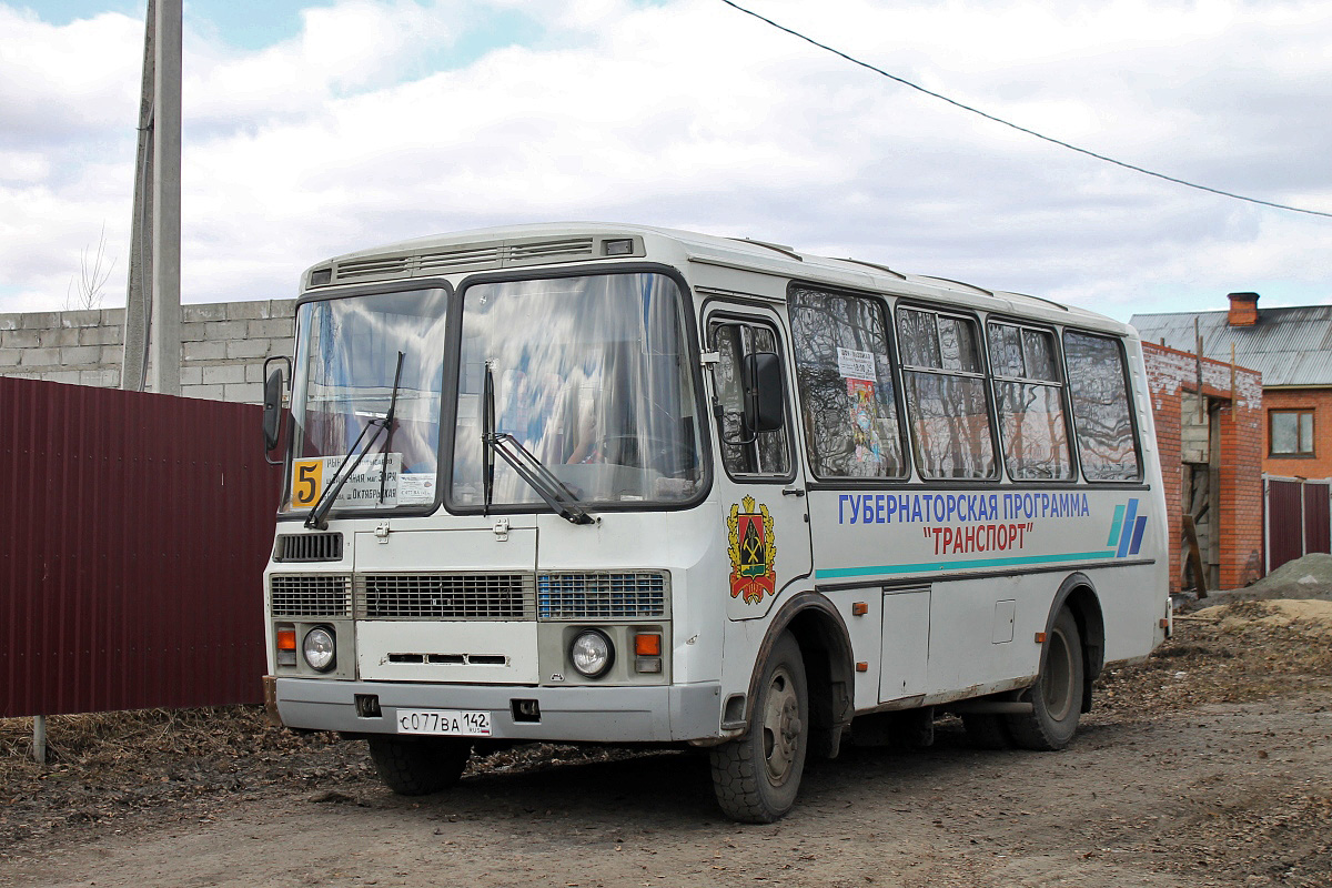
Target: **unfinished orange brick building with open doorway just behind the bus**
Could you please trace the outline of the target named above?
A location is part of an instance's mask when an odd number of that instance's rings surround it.
[[[1171,591],[1196,587],[1199,572],[1207,588],[1244,586],[1263,572],[1261,374],[1151,342],[1143,359],[1171,529]]]

